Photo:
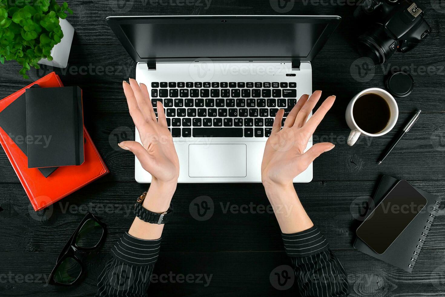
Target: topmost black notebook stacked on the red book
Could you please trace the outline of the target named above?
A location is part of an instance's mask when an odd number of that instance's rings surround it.
[[[79,87],[26,90],[28,167],[81,165],[84,162],[82,90]]]

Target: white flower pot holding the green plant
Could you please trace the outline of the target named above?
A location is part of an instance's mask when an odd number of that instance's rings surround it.
[[[60,26],[63,32],[63,38],[57,45],[54,45],[51,50],[53,61],[41,59],[39,64],[58,68],[66,68],[66,66],[68,66],[69,51],[71,50],[71,44],[73,43],[74,28],[67,20],[62,19],[60,19]]]

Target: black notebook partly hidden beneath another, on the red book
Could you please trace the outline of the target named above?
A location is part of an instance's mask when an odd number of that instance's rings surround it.
[[[38,88],[33,85],[31,88]],[[26,94],[22,94],[0,113],[0,126],[9,135],[13,142],[25,155],[28,155],[28,142],[31,141],[26,134]],[[35,141],[37,142],[37,140]],[[57,167],[38,168],[44,177],[56,171]]]

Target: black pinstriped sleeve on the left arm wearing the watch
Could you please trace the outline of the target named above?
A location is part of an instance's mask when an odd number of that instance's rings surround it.
[[[146,297],[161,239],[143,240],[125,232],[111,248],[97,283],[96,297]]]

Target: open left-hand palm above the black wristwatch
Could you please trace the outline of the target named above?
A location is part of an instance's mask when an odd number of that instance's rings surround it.
[[[119,146],[136,155],[142,167],[152,175],[151,187],[173,187],[179,176],[179,160],[173,144],[173,138],[167,127],[166,115],[162,102],[157,102],[158,120],[154,114],[147,86],[132,78],[129,83],[123,81],[125,97],[138,128],[142,145],[135,141],[123,141]]]

